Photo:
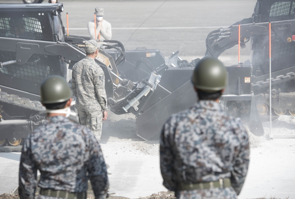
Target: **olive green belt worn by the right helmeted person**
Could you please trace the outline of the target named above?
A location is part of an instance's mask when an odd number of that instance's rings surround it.
[[[212,181],[206,183],[181,184],[178,190],[194,190],[194,189],[210,189],[210,188],[225,188],[232,186],[230,178],[220,178],[219,181]]]

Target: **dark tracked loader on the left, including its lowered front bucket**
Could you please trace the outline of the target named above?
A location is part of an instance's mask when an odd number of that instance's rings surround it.
[[[90,37],[66,34],[62,11],[63,4],[0,5],[2,151],[19,150],[27,135],[42,124],[46,116],[39,102],[42,80],[53,74],[67,78],[67,68],[86,55],[85,42]],[[164,59],[158,50],[125,51],[119,41],[101,42],[107,44],[95,61],[105,73],[111,111],[133,113],[137,135],[158,140],[166,118],[196,100],[189,92],[194,61],[182,60],[177,53]]]

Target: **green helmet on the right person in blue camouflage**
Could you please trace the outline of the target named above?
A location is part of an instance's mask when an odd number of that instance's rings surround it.
[[[217,92],[227,84],[227,70],[217,59],[202,59],[197,63],[191,81],[197,89]]]

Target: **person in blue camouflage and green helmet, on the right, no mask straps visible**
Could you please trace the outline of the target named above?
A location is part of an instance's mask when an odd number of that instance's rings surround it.
[[[192,82],[198,101],[171,115],[161,133],[163,185],[177,198],[237,198],[248,170],[249,141],[240,120],[219,104],[226,68],[217,59],[203,59]]]

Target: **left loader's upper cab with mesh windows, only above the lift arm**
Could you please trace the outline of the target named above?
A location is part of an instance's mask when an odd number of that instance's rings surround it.
[[[60,19],[63,4],[2,4],[0,37],[39,41],[64,41],[65,30]],[[16,34],[16,29],[21,29]]]

